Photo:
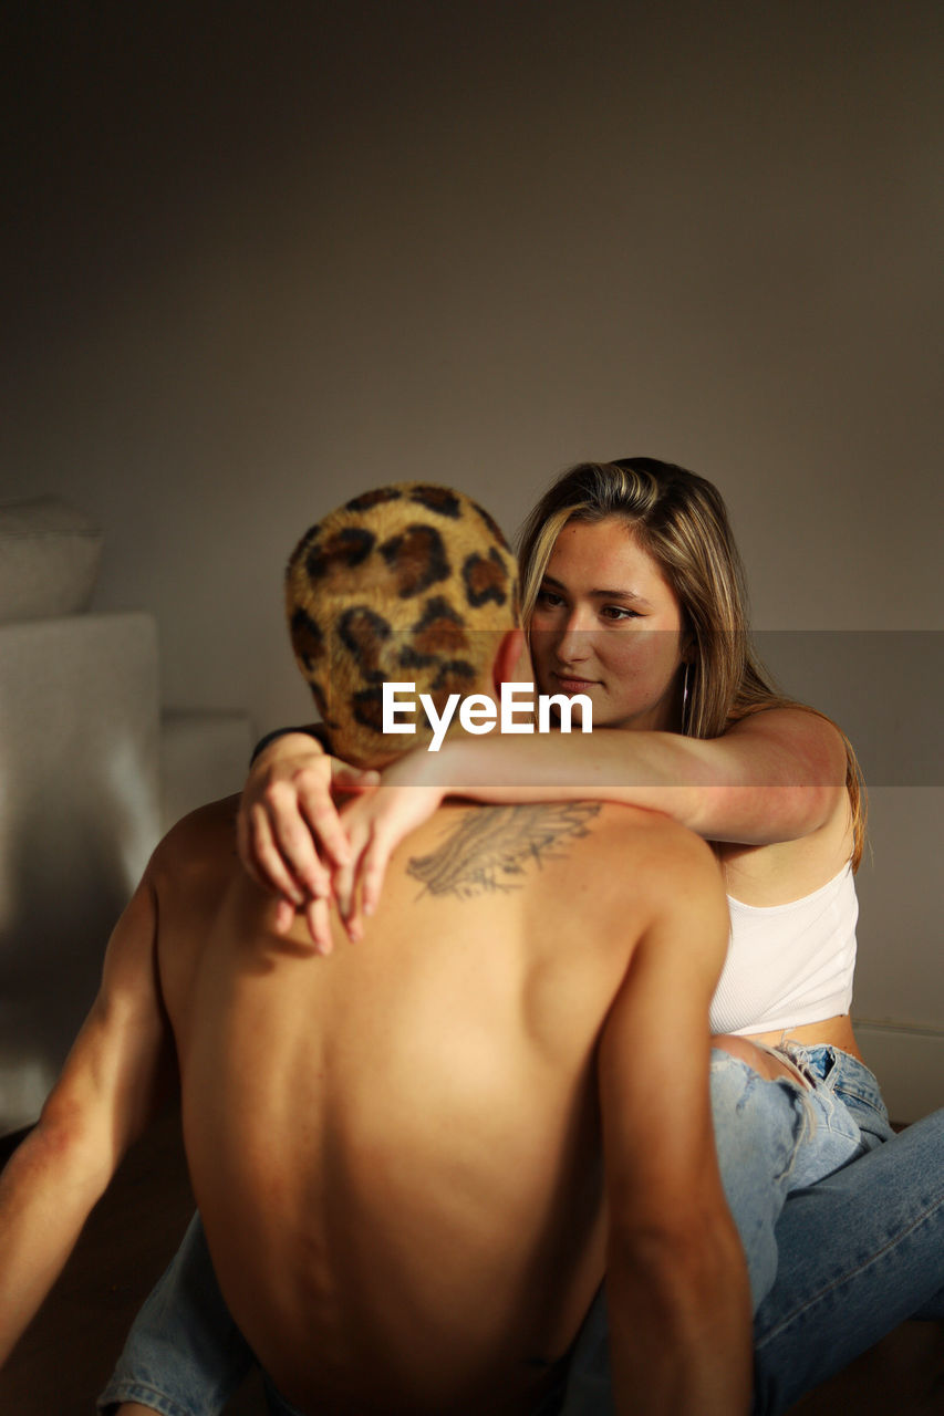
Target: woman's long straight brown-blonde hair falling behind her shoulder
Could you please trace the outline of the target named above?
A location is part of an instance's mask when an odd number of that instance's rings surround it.
[[[682,731],[720,738],[731,724],[763,708],[804,708],[781,694],[750,643],[747,590],[720,491],[704,477],[655,457],[584,462],[563,473],[527,517],[519,537],[522,615],[530,624],[554,542],[568,521],[618,518],[658,562],[672,586],[689,636],[687,700]],[[825,718],[825,714],[818,714]],[[826,719],[832,722],[832,719]],[[836,726],[833,724],[833,726]],[[853,868],[866,821],[862,772],[846,748]]]

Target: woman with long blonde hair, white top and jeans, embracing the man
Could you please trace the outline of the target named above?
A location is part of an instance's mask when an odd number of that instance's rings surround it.
[[[893,1140],[849,1020],[858,765],[753,660],[727,515],[703,479],[649,459],[573,469],[529,518],[522,578],[537,688],[587,700],[591,735],[446,741],[380,784],[285,736],[247,784],[241,854],[326,949],[332,875],[357,937],[390,852],[449,790],[626,801],[714,844],[731,902],[712,1017],[716,1136],[760,1306],[757,1409],[782,1410],[934,1294],[928,1313],[944,1315],[944,1113]],[[332,784],[359,793],[340,817]],[[792,1223],[801,1199],[808,1240]],[[605,1385],[601,1300],[567,1416],[598,1409]]]

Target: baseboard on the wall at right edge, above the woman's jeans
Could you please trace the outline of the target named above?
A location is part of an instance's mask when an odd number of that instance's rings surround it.
[[[944,1029],[872,1018],[853,1022],[893,1121],[910,1124],[944,1106]]]

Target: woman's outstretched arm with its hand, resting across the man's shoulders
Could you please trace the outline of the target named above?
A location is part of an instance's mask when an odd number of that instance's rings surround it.
[[[670,732],[456,738],[383,773],[344,807],[352,857],[333,877],[353,939],[377,906],[387,862],[446,796],[513,804],[604,800],[661,811],[704,840],[768,845],[809,835],[845,807],[838,729],[802,708],[775,708],[702,741]]]

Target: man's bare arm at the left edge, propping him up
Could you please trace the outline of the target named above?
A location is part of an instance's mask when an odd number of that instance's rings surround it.
[[[173,1059],[149,872],[115,926],[102,984],[43,1114],[0,1175],[0,1364],[153,1114]]]

